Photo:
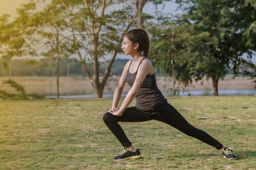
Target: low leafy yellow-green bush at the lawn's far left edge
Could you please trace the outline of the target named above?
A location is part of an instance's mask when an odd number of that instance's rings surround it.
[[[11,100],[28,100],[29,97],[26,95],[26,91],[24,87],[13,80],[3,80],[3,84],[9,84],[11,87],[15,88],[15,90],[19,93],[17,94],[9,94],[6,90],[0,90],[0,98],[11,99]]]

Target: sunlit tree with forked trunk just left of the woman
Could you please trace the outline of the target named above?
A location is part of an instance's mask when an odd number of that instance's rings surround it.
[[[77,54],[81,65],[94,88],[95,97],[102,97],[105,82],[110,74],[116,54],[121,52],[121,42],[124,34],[135,23],[137,13],[134,13],[130,1],[118,0],[76,1],[80,10],[74,8],[74,2],[62,1],[68,15],[72,38],[69,50]],[[108,6],[126,3],[119,10],[105,12]],[[85,54],[85,55],[83,55]],[[106,55],[111,55],[109,61]],[[99,59],[106,64],[106,70],[100,81]],[[89,72],[87,62],[93,61],[93,75]]]

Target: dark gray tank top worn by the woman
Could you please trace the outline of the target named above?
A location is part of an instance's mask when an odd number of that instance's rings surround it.
[[[141,65],[141,62],[146,58],[147,57],[144,57],[141,59],[139,66]],[[132,61],[129,65],[128,74],[126,76],[126,82],[129,84],[130,87],[132,87],[139,69],[139,66],[138,66],[135,73],[130,73],[129,69],[131,64],[132,64]],[[145,77],[140,88],[138,89],[135,99],[136,99],[135,107],[137,107],[142,111],[145,111],[148,114],[154,114],[153,109],[160,107],[161,105],[167,102],[167,99],[163,96],[163,94],[157,87],[155,73],[152,75],[147,75]]]

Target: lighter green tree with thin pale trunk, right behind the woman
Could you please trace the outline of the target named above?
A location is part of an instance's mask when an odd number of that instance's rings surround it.
[[[202,77],[195,73],[195,61],[188,57],[189,55],[183,51],[188,44],[201,41],[206,35],[201,34],[200,37],[195,37],[193,27],[190,24],[182,22],[178,15],[156,13],[156,20],[148,22],[147,27],[150,27],[151,34],[151,57],[154,67],[166,76],[170,76],[173,83],[173,88],[170,88],[173,95],[179,94],[179,87],[175,87],[177,81],[183,85],[183,90],[186,86],[192,84],[192,78],[196,81]],[[198,55],[196,55],[198,56]]]

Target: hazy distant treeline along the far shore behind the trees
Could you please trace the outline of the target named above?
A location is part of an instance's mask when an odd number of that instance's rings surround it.
[[[80,62],[72,60],[69,62],[69,58],[60,58],[59,63],[59,74],[60,76],[70,77],[86,77],[86,74],[81,66]],[[128,59],[115,59],[110,76],[120,76],[123,72],[125,64]],[[7,66],[7,67],[6,67]],[[87,64],[91,74],[93,74],[93,63]],[[106,65],[104,62],[100,62],[100,76],[105,72]],[[243,67],[242,70],[248,70],[248,67]],[[228,69],[228,74],[233,74],[232,70]],[[164,76],[159,71],[156,73],[157,76]],[[4,76],[56,76],[56,62],[48,61],[46,63],[40,63],[36,65],[30,65],[26,63],[26,60],[13,59],[13,60],[0,60],[0,77]],[[236,75],[240,76],[240,75]]]

